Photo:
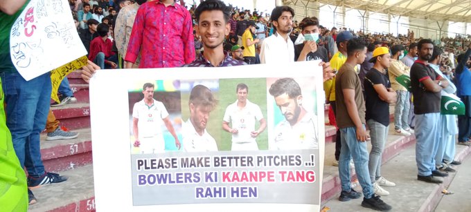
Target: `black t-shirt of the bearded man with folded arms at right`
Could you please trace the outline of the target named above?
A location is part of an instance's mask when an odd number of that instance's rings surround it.
[[[432,93],[425,90],[422,83],[425,79],[440,79],[440,75],[430,66],[425,66],[422,61],[416,61],[411,66],[411,86],[414,95],[414,113],[440,113],[441,93]]]

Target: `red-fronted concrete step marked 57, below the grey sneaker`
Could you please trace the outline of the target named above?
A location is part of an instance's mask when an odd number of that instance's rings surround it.
[[[41,156],[46,171],[64,171],[91,164],[91,133],[89,128],[74,131],[75,139],[46,141],[41,135]]]

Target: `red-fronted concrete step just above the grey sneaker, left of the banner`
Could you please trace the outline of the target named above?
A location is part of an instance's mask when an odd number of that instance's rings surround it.
[[[51,107],[55,118],[60,121],[61,126],[71,130],[90,127],[90,105],[89,103],[71,103],[64,106]]]

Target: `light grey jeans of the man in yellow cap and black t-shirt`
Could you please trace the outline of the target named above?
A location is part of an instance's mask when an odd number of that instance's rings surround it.
[[[371,151],[368,169],[370,171],[371,182],[375,182],[381,177],[381,157],[384,150],[384,143],[388,137],[388,126],[384,126],[380,122],[369,119],[366,124],[370,128]]]

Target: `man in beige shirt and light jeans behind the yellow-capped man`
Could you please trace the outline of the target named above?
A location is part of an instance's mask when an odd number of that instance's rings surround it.
[[[396,78],[401,75],[409,76],[411,68],[400,61],[400,59],[404,57],[404,46],[400,44],[392,46],[391,54],[393,56],[391,59],[391,66],[388,69],[389,80],[391,80],[391,86],[393,90],[396,90],[396,94],[398,96],[396,106],[394,107],[394,133],[396,133],[396,135],[409,136],[414,133],[414,130],[412,130],[409,127],[409,124],[407,124],[409,109],[411,108],[409,102],[410,94],[409,91],[407,91],[407,88],[398,83]]]

